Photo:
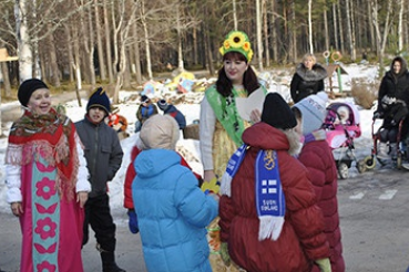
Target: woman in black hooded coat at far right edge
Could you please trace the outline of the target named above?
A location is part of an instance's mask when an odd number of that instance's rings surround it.
[[[401,139],[407,137],[408,132],[408,105],[409,105],[409,72],[403,57],[396,56],[390,70],[385,73],[378,92],[378,107],[374,113],[375,118],[382,118],[384,123],[379,130],[380,143],[378,158],[397,159],[397,136],[399,122],[406,118],[402,125]]]

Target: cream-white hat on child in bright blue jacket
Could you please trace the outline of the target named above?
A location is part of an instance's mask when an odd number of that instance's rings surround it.
[[[155,114],[147,118],[140,133],[144,149],[172,149],[176,148],[180,137],[178,125],[171,115]]]

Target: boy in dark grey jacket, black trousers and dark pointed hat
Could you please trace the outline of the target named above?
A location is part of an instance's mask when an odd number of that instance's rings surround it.
[[[111,181],[122,164],[123,151],[116,132],[104,122],[111,112],[111,103],[105,91],[99,87],[86,104],[85,117],[75,123],[78,134],[84,145],[86,167],[90,171],[91,192],[85,203],[84,237],[89,240],[89,224],[95,232],[96,249],[101,253],[103,272],[125,272],[115,262],[115,230],[108,181]]]

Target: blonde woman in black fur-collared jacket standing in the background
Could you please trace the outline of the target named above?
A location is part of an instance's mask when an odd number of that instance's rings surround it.
[[[324,90],[324,80],[327,77],[327,70],[317,63],[314,54],[305,54],[303,62],[296,67],[289,92],[294,103],[311,94],[317,94]]]

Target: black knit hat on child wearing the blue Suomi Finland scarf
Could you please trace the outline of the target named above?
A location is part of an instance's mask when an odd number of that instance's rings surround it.
[[[262,122],[282,129],[293,128],[297,125],[292,108],[277,93],[269,93],[263,105]]]

